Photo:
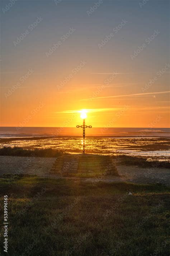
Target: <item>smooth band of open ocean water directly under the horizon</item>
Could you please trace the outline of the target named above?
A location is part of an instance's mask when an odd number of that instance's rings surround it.
[[[81,136],[82,129],[76,127],[0,127],[0,138],[13,137],[58,137]],[[87,136],[112,137],[170,137],[170,128],[92,128]]]

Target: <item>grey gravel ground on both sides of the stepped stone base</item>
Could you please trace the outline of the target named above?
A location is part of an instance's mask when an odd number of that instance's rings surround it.
[[[59,178],[49,173],[56,158],[0,156],[0,176],[4,173],[23,173],[41,177]],[[160,182],[170,185],[170,169],[167,168],[141,168],[138,166],[117,166],[119,176],[105,176],[102,179],[88,178],[86,181],[129,181],[134,183]],[[75,178],[72,178],[75,179]],[[77,178],[76,178],[77,180]]]

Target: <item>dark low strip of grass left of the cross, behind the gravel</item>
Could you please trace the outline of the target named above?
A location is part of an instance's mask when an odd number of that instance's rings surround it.
[[[64,153],[58,149],[23,149],[22,147],[2,147],[0,149],[0,155],[9,156],[37,156],[37,157],[57,157]]]

